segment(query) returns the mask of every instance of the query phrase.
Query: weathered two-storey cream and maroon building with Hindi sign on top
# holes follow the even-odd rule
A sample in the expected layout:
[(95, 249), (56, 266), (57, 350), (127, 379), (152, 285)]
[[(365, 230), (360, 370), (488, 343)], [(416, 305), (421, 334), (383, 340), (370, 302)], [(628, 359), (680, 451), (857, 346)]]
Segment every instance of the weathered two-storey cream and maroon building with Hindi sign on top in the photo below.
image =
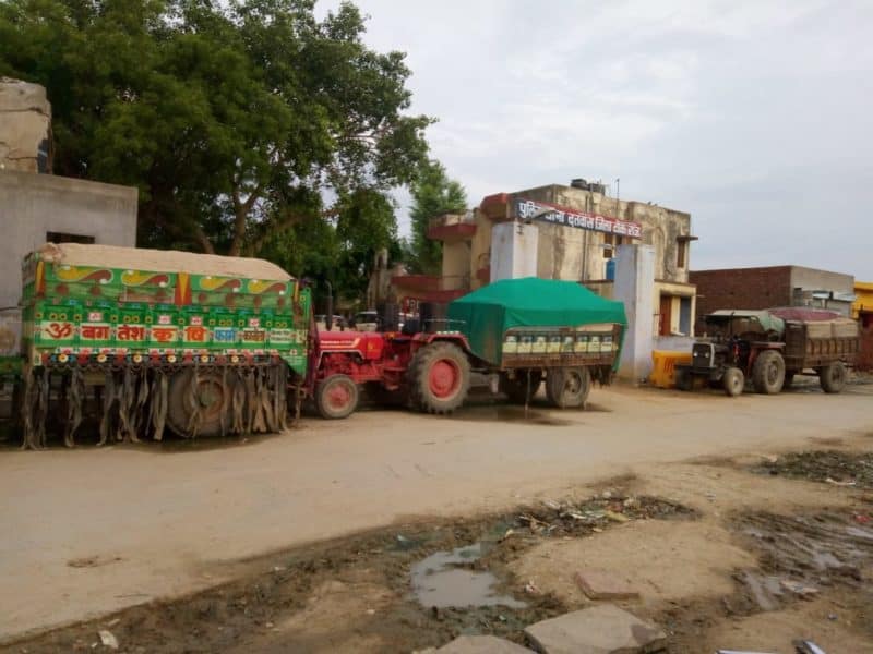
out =
[(482, 199), (463, 215), (431, 220), (443, 243), (440, 276), (393, 279), (398, 299), (447, 302), (505, 277), (575, 280), (612, 298), (617, 249), (655, 250), (653, 334), (693, 332), (695, 288), (689, 282), (691, 216), (651, 203), (609, 197), (602, 184), (574, 180)]

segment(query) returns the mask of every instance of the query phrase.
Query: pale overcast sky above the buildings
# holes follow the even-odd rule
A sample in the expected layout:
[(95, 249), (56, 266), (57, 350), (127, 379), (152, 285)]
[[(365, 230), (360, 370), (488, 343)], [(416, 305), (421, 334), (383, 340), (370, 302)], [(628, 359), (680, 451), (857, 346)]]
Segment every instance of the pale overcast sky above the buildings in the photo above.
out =
[(873, 281), (873, 1), (356, 4), (372, 47), (407, 53), (470, 206), (621, 178), (622, 198), (692, 215), (692, 268)]

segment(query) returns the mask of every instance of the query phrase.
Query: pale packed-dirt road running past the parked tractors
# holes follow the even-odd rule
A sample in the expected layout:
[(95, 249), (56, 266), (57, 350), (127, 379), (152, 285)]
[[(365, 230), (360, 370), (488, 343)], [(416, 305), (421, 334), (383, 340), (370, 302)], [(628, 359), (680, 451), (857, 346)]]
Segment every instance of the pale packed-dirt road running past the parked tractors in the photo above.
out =
[(492, 512), (654, 464), (870, 443), (873, 387), (596, 389), (585, 412), (372, 411), (218, 449), (0, 452), (0, 639), (213, 585), (239, 559), (409, 516)]

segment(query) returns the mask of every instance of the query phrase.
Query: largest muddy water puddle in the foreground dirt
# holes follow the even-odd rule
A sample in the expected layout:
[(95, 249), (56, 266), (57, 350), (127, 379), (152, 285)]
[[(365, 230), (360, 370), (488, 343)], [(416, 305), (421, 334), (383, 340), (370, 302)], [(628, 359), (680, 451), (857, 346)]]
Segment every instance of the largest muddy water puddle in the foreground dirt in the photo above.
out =
[(477, 543), (450, 552), (436, 552), (412, 566), (412, 592), (422, 606), (507, 606), (527, 605), (509, 595), (497, 594), (498, 578), (490, 572), (470, 570), (463, 566), (482, 556)]

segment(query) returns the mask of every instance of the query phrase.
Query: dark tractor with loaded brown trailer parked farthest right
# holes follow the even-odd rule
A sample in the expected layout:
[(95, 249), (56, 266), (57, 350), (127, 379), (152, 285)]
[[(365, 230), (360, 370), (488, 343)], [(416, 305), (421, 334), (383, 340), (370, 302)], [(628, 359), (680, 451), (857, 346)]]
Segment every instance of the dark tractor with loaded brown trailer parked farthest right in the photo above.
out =
[(677, 364), (675, 385), (691, 390), (695, 379), (743, 392), (789, 388), (797, 375), (816, 375), (825, 392), (840, 392), (847, 368), (860, 350), (858, 324), (847, 318), (784, 319), (769, 311), (722, 310), (704, 317), (707, 337), (692, 347), (690, 364)]

